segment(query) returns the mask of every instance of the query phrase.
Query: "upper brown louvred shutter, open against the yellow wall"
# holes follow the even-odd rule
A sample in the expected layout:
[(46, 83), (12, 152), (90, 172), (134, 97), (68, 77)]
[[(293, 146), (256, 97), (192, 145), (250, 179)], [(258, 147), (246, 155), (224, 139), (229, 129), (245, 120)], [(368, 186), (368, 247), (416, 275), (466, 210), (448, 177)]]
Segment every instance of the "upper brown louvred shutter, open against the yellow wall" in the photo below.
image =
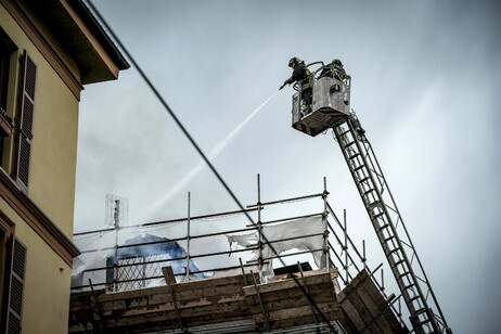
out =
[(29, 181), (36, 79), (37, 65), (25, 51), (23, 54), (23, 95), (20, 108), (20, 142), (15, 178), (24, 192), (27, 192)]

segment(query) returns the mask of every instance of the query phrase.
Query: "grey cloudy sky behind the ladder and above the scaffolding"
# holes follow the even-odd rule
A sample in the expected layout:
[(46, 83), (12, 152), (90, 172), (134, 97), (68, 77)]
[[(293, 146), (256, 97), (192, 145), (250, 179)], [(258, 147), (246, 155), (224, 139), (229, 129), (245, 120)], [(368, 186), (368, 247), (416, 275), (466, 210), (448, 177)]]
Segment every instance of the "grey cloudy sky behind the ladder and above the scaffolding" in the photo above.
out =
[[(288, 59), (343, 61), (371, 141), (454, 333), (501, 309), (501, 5), (496, 1), (125, 1), (93, 4), (241, 203), (323, 191), (374, 240), (332, 134), (291, 128)], [(256, 108), (272, 97), (234, 137)], [(220, 144), (226, 143), (222, 150)], [(75, 231), (237, 209), (134, 68), (86, 87)], [(194, 172), (192, 172), (195, 170)], [(188, 176), (188, 177), (187, 177)], [(265, 218), (266, 219), (266, 218)], [(374, 251), (374, 262), (377, 252)], [(369, 253), (371, 257), (371, 253)]]

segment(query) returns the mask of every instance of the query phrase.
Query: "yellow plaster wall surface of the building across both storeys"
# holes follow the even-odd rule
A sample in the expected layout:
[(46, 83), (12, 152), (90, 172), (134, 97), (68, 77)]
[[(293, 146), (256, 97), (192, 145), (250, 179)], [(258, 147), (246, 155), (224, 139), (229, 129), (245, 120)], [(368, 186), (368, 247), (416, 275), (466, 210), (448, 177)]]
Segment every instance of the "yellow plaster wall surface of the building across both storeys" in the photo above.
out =
[[(28, 196), (69, 239), (73, 235), (78, 100), (65, 86), (31, 40), (0, 4), (0, 26), (37, 65), (34, 139)], [(51, 41), (53, 42), (53, 41)], [(54, 46), (57, 49), (57, 46)], [(63, 59), (68, 59), (63, 55)], [(78, 74), (75, 64), (70, 70)], [(12, 75), (12, 74), (11, 74)], [(18, 90), (18, 69), (14, 74)], [(78, 78), (78, 76), (76, 75)], [(11, 89), (11, 88), (10, 88)], [(9, 92), (8, 108), (16, 110), (16, 94)], [(13, 156), (13, 155), (11, 155)], [(11, 174), (11, 164), (7, 172)], [(22, 327), (24, 334), (67, 333), (70, 272), (68, 266), (0, 197), (2, 210), (15, 224), (15, 235), (27, 247)]]

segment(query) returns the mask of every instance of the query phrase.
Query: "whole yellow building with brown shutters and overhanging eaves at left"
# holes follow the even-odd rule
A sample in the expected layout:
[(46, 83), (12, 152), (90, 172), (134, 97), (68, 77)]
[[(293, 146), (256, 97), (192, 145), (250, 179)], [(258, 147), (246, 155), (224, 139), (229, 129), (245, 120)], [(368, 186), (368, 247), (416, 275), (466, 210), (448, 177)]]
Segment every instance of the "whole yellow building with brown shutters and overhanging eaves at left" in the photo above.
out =
[(0, 0), (0, 330), (66, 333), (84, 86), (129, 65), (81, 0)]

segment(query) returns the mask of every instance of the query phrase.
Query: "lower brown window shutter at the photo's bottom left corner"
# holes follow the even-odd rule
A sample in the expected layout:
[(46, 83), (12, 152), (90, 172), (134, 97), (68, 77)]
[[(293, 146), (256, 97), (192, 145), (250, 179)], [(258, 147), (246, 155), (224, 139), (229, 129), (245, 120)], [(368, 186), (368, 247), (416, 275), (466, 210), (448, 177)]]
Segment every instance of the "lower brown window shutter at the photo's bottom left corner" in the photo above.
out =
[(26, 247), (12, 236), (8, 277), (8, 306), (5, 334), (21, 333), (23, 312), (24, 274), (26, 269)]

